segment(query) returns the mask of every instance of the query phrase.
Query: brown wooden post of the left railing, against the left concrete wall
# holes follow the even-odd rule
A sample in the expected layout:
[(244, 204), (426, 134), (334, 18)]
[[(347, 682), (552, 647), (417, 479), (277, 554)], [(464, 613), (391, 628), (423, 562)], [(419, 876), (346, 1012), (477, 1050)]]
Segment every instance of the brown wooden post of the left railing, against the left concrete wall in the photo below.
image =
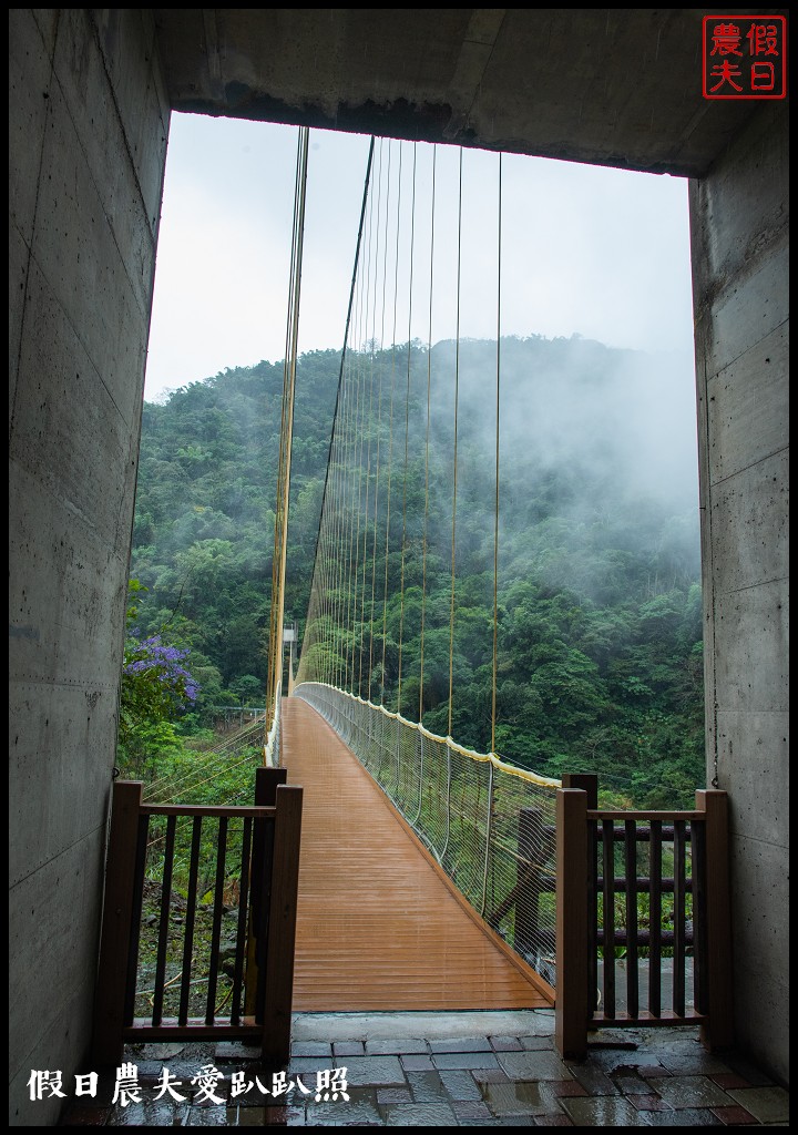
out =
[(95, 1068), (119, 1065), (123, 1057), (125, 982), (141, 801), (141, 781), (117, 781), (114, 784), (100, 961), (94, 992), (92, 1065)]

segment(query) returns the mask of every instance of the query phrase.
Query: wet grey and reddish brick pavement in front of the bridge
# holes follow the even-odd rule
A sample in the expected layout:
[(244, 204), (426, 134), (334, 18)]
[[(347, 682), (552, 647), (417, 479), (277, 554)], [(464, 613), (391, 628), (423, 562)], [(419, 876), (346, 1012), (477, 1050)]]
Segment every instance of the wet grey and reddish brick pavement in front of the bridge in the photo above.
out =
[[(62, 1126), (788, 1126), (789, 1093), (695, 1028), (602, 1031), (561, 1060), (553, 1010), (299, 1014), (291, 1062), (242, 1044), (145, 1044), (81, 1083)], [(118, 1082), (118, 1083), (117, 1083)], [(91, 1094), (92, 1087), (94, 1093)], [(76, 1084), (77, 1090), (77, 1084)], [(115, 1102), (115, 1095), (117, 1096)]]

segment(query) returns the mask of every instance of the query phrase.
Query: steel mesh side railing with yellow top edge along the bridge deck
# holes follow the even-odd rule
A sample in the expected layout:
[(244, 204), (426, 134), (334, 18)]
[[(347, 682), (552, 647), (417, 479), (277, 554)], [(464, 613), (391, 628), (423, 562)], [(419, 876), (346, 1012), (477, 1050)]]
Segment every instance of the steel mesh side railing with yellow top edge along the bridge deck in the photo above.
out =
[(352, 749), (477, 914), (554, 986), (560, 781), (333, 686), (302, 682), (294, 693)]

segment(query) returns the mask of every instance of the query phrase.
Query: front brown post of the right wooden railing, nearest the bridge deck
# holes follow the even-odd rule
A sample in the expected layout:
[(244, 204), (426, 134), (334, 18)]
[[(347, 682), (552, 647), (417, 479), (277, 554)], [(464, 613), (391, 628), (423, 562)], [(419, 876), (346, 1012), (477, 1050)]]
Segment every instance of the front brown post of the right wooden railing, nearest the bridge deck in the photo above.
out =
[(587, 792), (557, 790), (555, 1043), (562, 1057), (587, 1056)]

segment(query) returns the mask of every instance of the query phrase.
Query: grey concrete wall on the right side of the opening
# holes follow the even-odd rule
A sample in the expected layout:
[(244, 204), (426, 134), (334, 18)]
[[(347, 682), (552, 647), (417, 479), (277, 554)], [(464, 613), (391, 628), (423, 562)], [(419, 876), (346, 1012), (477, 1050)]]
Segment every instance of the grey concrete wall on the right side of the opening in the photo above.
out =
[(731, 799), (738, 1039), (786, 1083), (787, 128), (768, 106), (691, 185), (707, 783)]

